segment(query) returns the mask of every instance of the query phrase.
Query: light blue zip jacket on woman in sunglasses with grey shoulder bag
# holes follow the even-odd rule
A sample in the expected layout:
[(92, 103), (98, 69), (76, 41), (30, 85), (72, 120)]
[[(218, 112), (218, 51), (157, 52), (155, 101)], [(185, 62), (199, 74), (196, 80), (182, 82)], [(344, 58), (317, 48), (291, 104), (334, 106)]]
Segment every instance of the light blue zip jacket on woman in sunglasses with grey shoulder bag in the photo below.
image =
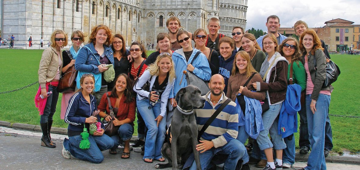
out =
[[(193, 48), (193, 53), (191, 54), (189, 61), (186, 62), (185, 54), (182, 48), (175, 50), (172, 53), (172, 60), (175, 64), (175, 84), (172, 92), (170, 93), (169, 98), (175, 98), (176, 93), (180, 90), (180, 88), (188, 86), (188, 82), (186, 82), (185, 76), (183, 76), (183, 71), (189, 72), (186, 68), (188, 64), (191, 63), (195, 54), (199, 50)], [(211, 77), (211, 69), (209, 66), (209, 62), (206, 56), (203, 53), (200, 53), (196, 60), (193, 62), (193, 66), (195, 67), (193, 73), (201, 78), (204, 81), (209, 81)], [(181, 83), (180, 83), (181, 82)]]

